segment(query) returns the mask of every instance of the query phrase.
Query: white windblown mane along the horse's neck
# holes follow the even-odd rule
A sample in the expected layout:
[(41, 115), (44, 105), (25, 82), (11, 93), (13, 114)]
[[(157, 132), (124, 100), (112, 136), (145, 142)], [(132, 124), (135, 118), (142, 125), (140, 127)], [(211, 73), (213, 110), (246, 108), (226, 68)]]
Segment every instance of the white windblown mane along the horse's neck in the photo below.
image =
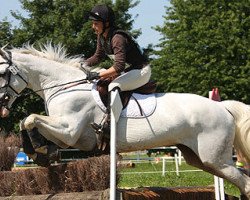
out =
[(34, 45), (25, 44), (22, 48), (14, 48), (12, 51), (47, 58), (74, 67), (79, 67), (79, 62), (83, 60), (81, 56), (68, 56), (66, 48), (61, 44), (54, 46), (51, 43), (43, 44), (40, 45), (40, 50)]

